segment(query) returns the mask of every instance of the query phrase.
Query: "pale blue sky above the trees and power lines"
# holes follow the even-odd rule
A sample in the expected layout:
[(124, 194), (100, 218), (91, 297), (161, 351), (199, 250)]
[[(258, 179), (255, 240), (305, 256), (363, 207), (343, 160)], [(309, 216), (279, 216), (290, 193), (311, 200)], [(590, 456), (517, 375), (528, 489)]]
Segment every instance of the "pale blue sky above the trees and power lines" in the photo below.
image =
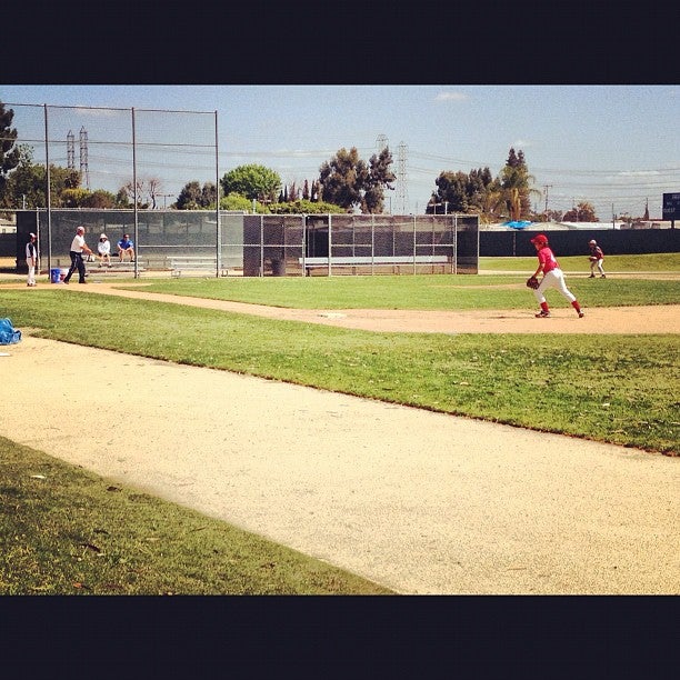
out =
[[(79, 131), (87, 130), (92, 189), (116, 191), (131, 179), (131, 162), (120, 160), (114, 142), (129, 139), (134, 108), (142, 141), (176, 144), (162, 159), (160, 151), (142, 154), (143, 171), (174, 196), (187, 181), (214, 181), (214, 111), (219, 177), (261, 163), (301, 186), (338, 149), (357, 147), (368, 161), (386, 138), (399, 176), (388, 193), (392, 212), (423, 212), (441, 171), (489, 167), (498, 174), (511, 147), (524, 152), (538, 208), (546, 193), (548, 208), (562, 211), (589, 201), (607, 221), (612, 207), (618, 216), (642, 216), (649, 200), (650, 217), (660, 218), (662, 194), (680, 191), (677, 84), (2, 84), (0, 100), (14, 109), (13, 126), (26, 139), (44, 133), (42, 109), (13, 104), (48, 104), (50, 140), (73, 132), (77, 167)], [(103, 111), (73, 117), (60, 107), (123, 111), (109, 128)], [(56, 144), (50, 157), (66, 166), (63, 149)], [(36, 160), (44, 160), (43, 146)]]

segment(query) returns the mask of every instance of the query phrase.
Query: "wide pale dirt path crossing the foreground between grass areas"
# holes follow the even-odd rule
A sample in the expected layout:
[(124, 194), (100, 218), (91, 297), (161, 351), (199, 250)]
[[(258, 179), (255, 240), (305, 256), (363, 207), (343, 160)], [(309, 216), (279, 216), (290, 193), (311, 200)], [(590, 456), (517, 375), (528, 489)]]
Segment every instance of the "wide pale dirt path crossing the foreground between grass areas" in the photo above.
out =
[(0, 434), (399, 592), (680, 593), (680, 459), (30, 333), (2, 350)]

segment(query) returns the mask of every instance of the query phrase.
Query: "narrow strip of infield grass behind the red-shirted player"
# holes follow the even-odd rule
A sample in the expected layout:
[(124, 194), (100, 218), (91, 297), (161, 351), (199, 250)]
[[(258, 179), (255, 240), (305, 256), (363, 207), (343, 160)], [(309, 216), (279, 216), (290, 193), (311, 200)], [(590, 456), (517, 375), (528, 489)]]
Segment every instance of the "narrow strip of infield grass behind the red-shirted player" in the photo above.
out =
[[(536, 301), (524, 281), (523, 276), (507, 274), (187, 278), (144, 280), (144, 290), (298, 309), (533, 309)], [(586, 308), (680, 301), (680, 278), (573, 277), (567, 284)], [(559, 293), (553, 292), (550, 302), (556, 308), (568, 307)]]

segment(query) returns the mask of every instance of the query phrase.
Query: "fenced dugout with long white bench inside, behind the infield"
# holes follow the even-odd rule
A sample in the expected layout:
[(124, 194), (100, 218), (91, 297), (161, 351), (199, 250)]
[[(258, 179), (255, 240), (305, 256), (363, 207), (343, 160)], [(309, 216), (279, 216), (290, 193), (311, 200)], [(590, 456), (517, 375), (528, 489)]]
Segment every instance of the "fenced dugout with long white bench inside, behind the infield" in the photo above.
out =
[(478, 216), (243, 218), (243, 276), (477, 273)]

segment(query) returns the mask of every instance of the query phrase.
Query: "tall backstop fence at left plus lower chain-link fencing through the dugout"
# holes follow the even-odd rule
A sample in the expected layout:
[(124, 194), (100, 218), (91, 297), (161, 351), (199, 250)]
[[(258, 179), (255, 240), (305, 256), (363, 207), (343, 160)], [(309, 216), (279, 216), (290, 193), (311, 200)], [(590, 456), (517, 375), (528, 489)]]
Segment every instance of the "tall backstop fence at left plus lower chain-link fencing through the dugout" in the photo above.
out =
[[(13, 111), (14, 143), (28, 154), (28, 164), (44, 169), (36, 190), (14, 207), (19, 270), (26, 267), (31, 231), (38, 234), (42, 268), (68, 266), (82, 224), (94, 251), (99, 234), (107, 233), (114, 262), (116, 242), (130, 234), (136, 277), (154, 269), (202, 276), (478, 271), (478, 216), (167, 210), (167, 198), (178, 197), (189, 182), (203, 190), (214, 184), (219, 206), (217, 111), (4, 106)], [(64, 170), (77, 170), (81, 188), (93, 192), (123, 191), (132, 208), (69, 208), (54, 198), (68, 196), (64, 182), (72, 180)]]

